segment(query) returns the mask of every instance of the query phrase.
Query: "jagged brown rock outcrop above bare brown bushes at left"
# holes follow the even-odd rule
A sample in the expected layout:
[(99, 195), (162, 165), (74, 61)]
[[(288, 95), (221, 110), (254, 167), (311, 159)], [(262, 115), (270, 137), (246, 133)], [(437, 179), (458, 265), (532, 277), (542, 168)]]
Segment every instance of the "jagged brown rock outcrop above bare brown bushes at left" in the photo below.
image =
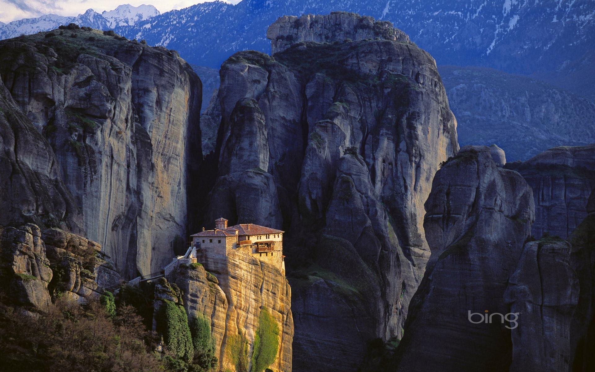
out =
[(60, 229), (35, 224), (0, 229), (0, 280), (10, 301), (29, 312), (45, 310), (52, 296), (98, 299), (120, 276), (101, 246)]

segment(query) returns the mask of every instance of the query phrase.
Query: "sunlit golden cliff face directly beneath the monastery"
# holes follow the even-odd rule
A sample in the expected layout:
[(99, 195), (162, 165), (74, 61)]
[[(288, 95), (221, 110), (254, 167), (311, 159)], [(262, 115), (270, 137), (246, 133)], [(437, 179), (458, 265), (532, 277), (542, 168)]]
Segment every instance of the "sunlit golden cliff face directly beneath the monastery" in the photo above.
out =
[(168, 280), (183, 293), (190, 322), (197, 317), (210, 321), (220, 370), (242, 371), (242, 361), (250, 368), (259, 317), (261, 311), (267, 311), (279, 330), (277, 354), (269, 368), (291, 371), (291, 290), (283, 273), (240, 252), (227, 257), (209, 254), (201, 261), (204, 267), (180, 267)]

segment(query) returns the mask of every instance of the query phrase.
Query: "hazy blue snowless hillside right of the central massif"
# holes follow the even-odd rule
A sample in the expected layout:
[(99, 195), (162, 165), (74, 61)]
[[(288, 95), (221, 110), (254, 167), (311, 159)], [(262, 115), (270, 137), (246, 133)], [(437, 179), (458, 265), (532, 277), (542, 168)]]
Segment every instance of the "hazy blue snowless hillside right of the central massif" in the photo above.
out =
[(440, 66), (459, 143), (491, 145), (508, 161), (595, 142), (595, 102), (539, 80), (480, 67)]

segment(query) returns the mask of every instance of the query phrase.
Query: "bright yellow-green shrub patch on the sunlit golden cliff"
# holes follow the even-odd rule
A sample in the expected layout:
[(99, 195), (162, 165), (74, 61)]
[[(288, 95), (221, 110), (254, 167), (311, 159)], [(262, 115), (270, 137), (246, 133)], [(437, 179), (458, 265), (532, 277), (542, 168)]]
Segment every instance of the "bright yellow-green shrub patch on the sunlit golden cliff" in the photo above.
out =
[(262, 372), (277, 358), (279, 326), (267, 308), (262, 308), (254, 337), (252, 372)]

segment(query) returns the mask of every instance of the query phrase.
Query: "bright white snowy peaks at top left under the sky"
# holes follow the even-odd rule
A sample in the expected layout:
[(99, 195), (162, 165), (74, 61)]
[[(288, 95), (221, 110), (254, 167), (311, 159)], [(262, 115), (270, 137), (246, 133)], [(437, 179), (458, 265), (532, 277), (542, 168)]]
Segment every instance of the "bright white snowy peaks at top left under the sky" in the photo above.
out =
[(115, 10), (104, 11), (102, 14), (92, 9), (76, 17), (46, 14), (37, 18), (24, 18), (8, 24), (0, 24), (0, 39), (10, 39), (10, 37), (16, 37), (21, 34), (30, 35), (40, 31), (53, 30), (62, 24), (68, 23), (108, 30), (118, 26), (133, 26), (138, 21), (148, 20), (158, 14), (159, 11), (153, 5), (133, 7), (130, 4), (120, 5)]

